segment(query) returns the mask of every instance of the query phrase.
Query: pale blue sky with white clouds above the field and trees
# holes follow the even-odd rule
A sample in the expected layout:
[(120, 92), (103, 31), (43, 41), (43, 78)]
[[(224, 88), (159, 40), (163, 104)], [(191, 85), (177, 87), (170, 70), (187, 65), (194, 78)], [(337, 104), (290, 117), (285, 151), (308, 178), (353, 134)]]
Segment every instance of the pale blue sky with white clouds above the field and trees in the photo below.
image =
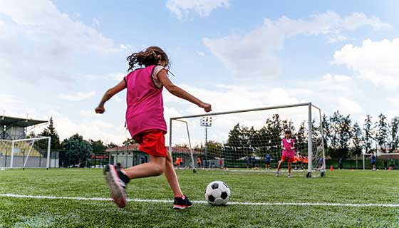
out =
[[(53, 116), (61, 138), (120, 143), (126, 56), (161, 46), (172, 81), (214, 111), (313, 102), (398, 115), (398, 1), (0, 0), (0, 110)], [(165, 95), (165, 116), (202, 110)], [(228, 98), (228, 99), (226, 99)], [(375, 119), (376, 120), (376, 119)], [(40, 129), (37, 129), (40, 131)]]

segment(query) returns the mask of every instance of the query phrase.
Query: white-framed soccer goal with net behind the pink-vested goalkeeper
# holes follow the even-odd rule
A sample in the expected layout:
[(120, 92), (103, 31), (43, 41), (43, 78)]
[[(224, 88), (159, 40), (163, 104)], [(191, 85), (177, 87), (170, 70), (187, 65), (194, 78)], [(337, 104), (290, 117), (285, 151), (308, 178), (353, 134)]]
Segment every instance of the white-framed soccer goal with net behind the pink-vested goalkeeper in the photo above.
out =
[(194, 170), (273, 171), (285, 130), (295, 142), (292, 170), (325, 175), (321, 110), (312, 103), (170, 118), (169, 150), (175, 158), (186, 148)]

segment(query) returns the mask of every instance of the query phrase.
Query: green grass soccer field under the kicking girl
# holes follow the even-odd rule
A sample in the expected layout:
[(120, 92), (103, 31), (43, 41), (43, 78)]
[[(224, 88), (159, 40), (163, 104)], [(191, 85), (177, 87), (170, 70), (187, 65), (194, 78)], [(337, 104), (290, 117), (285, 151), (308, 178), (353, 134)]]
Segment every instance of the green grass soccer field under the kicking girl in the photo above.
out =
[[(331, 205), (227, 204), (197, 202), (173, 210), (171, 202), (128, 202), (125, 209), (107, 200), (35, 199), (4, 194), (106, 197), (100, 169), (6, 170), (0, 172), (0, 227), (399, 227), (399, 207), (341, 204), (399, 204), (399, 172), (334, 170), (311, 180), (265, 172), (177, 170), (183, 192), (204, 200), (204, 188), (222, 180), (230, 202), (311, 202)], [(172, 199), (164, 176), (133, 180), (130, 199)]]

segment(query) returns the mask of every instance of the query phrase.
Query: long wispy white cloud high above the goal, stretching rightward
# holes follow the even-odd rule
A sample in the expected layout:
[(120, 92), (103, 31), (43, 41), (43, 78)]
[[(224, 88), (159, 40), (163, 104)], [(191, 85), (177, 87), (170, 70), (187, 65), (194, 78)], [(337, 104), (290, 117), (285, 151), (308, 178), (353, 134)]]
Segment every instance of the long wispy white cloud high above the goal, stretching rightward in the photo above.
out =
[(343, 41), (347, 38), (342, 34), (343, 31), (361, 26), (390, 28), (377, 17), (368, 18), (364, 14), (353, 13), (343, 18), (328, 11), (311, 15), (308, 21), (286, 16), (276, 21), (265, 19), (264, 24), (247, 34), (204, 38), (203, 42), (237, 78), (271, 78), (282, 71), (277, 54), (284, 48), (286, 38), (299, 34), (326, 35), (328, 42)]

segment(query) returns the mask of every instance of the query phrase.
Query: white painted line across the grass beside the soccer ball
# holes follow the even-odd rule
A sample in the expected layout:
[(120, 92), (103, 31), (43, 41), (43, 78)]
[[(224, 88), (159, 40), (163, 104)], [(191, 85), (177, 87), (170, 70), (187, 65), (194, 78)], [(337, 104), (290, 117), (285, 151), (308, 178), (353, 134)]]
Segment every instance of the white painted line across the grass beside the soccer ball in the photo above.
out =
[[(68, 199), (68, 200), (88, 200), (88, 201), (112, 201), (110, 198), (100, 197), (55, 197), (43, 195), (15, 195), (0, 194), (0, 197), (27, 198), (27, 199)], [(153, 202), (153, 203), (173, 203), (168, 199), (127, 199), (129, 202)], [(196, 204), (207, 204), (204, 200), (193, 200)], [(228, 202), (227, 204), (248, 205), (248, 206), (326, 206), (326, 207), (399, 207), (399, 204), (341, 204), (324, 202)]]

